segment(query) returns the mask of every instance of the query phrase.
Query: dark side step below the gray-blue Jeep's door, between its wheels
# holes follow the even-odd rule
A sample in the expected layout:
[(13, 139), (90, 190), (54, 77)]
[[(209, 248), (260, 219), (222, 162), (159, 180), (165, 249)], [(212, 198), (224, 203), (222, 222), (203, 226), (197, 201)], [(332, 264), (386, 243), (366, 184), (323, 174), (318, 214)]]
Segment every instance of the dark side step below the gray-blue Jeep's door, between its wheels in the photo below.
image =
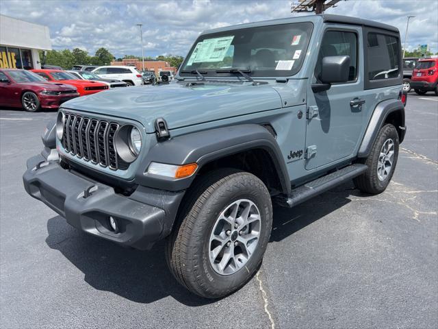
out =
[(348, 167), (344, 167), (316, 180), (307, 182), (302, 186), (294, 188), (291, 195), (289, 195), (287, 199), (283, 199), (281, 204), (294, 207), (297, 204), (305, 202), (318, 194), (329, 191), (331, 188), (359, 176), (361, 173), (365, 172), (367, 168), (368, 166), (365, 164), (351, 164)]

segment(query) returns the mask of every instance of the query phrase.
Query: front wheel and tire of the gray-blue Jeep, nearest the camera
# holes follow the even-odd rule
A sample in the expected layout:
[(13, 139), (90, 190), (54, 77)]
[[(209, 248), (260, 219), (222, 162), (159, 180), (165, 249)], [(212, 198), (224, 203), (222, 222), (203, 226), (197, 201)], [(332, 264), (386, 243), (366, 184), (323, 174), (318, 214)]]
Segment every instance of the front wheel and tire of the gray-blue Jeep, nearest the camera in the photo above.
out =
[(272, 228), (270, 194), (255, 175), (234, 169), (195, 183), (166, 239), (166, 259), (189, 291), (223, 297), (243, 287), (261, 264)]

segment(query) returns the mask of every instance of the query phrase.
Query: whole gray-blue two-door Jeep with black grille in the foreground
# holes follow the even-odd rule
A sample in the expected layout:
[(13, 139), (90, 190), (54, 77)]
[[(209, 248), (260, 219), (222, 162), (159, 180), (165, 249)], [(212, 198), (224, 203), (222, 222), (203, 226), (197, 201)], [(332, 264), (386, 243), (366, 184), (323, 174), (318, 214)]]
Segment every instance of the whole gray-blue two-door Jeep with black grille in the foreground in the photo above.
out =
[(175, 278), (222, 297), (261, 264), (272, 202), (350, 179), (385, 191), (406, 132), (400, 54), (398, 29), (344, 16), (211, 29), (170, 84), (64, 103), (25, 189), (94, 236), (166, 239)]

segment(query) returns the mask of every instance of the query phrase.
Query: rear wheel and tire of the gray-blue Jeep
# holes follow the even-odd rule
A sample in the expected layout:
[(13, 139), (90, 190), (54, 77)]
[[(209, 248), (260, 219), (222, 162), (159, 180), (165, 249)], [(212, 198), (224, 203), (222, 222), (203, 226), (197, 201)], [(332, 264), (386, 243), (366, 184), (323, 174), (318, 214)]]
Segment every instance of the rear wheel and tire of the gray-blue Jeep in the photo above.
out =
[(353, 179), (356, 188), (370, 194), (385, 191), (396, 169), (398, 145), (396, 127), (391, 124), (381, 127), (370, 155), (365, 160), (365, 164), (368, 166), (367, 171)]

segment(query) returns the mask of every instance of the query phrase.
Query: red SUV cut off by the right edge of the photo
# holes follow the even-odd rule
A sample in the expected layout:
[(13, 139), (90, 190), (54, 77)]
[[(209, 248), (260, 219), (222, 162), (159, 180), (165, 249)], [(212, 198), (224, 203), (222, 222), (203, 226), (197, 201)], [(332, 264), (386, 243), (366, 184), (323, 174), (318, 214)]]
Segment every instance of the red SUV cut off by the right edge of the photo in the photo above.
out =
[(435, 91), (438, 96), (438, 58), (424, 58), (417, 62), (412, 73), (411, 88), (418, 95)]

